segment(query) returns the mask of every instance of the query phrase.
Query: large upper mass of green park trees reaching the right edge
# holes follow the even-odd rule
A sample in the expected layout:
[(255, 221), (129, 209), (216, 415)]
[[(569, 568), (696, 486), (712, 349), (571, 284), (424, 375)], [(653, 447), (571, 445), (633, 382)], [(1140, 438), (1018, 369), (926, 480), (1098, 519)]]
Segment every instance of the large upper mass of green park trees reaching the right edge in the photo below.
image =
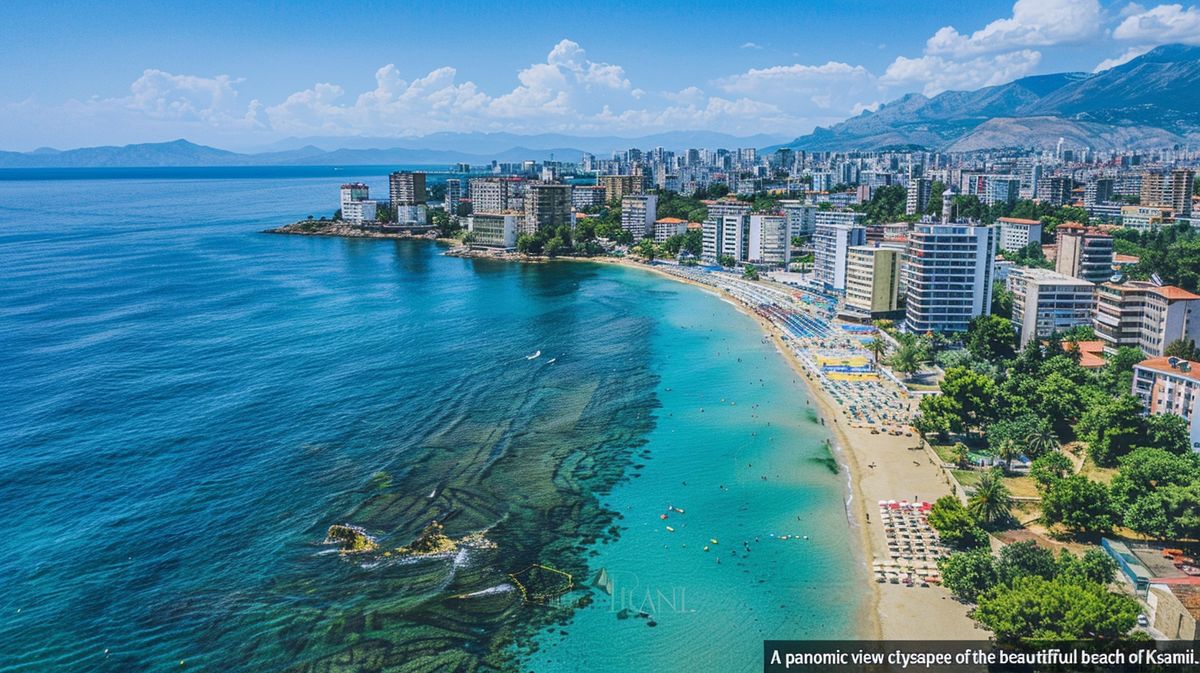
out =
[[(1040, 521), (1061, 534), (1094, 539), (1123, 527), (1154, 539), (1200, 537), (1200, 457), (1190, 451), (1183, 417), (1147, 415), (1129, 393), (1140, 351), (1120, 349), (1104, 367), (1088, 371), (1079, 365), (1079, 350), (1058, 337), (1016, 350), (1012, 324), (996, 316), (972, 322), (962, 342), (941, 395), (922, 399), (916, 422), (924, 435), (953, 443), (953, 462), (966, 464), (972, 447), (997, 458), (1000, 471), (1031, 461)], [(917, 339), (907, 343), (920, 348)], [(1172, 347), (1184, 351), (1194, 344)], [(1078, 459), (1063, 453), (1063, 445), (1074, 446)], [(1076, 474), (1085, 461), (1111, 470), (1111, 485)], [(943, 533), (952, 545), (972, 539), (968, 523), (984, 529), (1001, 523), (994, 503), (1003, 498), (995, 482), (1002, 483), (995, 469), (976, 482), (966, 506), (970, 522), (931, 515), (930, 523), (941, 530), (938, 524), (958, 522)]]

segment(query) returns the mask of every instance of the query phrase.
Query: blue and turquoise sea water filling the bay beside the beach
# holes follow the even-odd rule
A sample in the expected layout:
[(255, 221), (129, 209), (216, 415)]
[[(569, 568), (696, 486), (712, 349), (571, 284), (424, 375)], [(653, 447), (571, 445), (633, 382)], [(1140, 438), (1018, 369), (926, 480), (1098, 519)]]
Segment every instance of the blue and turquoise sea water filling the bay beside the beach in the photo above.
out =
[[(845, 469), (754, 322), (640, 270), (259, 233), (347, 176), (2, 176), (0, 671), (760, 671), (864, 635)], [(322, 545), (433, 519), (490, 545)]]

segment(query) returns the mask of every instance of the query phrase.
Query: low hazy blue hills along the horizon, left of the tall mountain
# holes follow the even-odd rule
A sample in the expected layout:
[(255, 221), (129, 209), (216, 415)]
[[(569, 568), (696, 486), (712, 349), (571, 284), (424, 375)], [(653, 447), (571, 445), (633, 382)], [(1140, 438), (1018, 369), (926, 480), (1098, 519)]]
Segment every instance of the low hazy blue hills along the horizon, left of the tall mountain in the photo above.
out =
[(187, 140), (31, 152), (0, 151), (0, 168), (116, 168), (178, 166), (474, 166), (526, 160), (578, 161), (583, 152), (611, 156), (630, 148), (761, 148), (779, 136), (736, 137), (709, 131), (678, 131), (638, 138), (583, 137), (559, 133), (434, 133), (421, 138), (289, 138), (258, 152), (232, 152)]

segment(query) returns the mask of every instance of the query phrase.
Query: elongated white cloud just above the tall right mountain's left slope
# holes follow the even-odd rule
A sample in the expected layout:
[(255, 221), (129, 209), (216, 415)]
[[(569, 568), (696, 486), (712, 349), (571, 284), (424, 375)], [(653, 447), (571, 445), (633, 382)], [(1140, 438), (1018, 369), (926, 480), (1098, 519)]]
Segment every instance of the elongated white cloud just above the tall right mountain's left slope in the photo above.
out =
[(916, 59), (900, 56), (888, 66), (881, 82), (899, 88), (919, 85), (923, 94), (935, 96), (948, 90), (1004, 84), (1030, 74), (1040, 61), (1042, 54), (1031, 49), (968, 60), (935, 55)]

